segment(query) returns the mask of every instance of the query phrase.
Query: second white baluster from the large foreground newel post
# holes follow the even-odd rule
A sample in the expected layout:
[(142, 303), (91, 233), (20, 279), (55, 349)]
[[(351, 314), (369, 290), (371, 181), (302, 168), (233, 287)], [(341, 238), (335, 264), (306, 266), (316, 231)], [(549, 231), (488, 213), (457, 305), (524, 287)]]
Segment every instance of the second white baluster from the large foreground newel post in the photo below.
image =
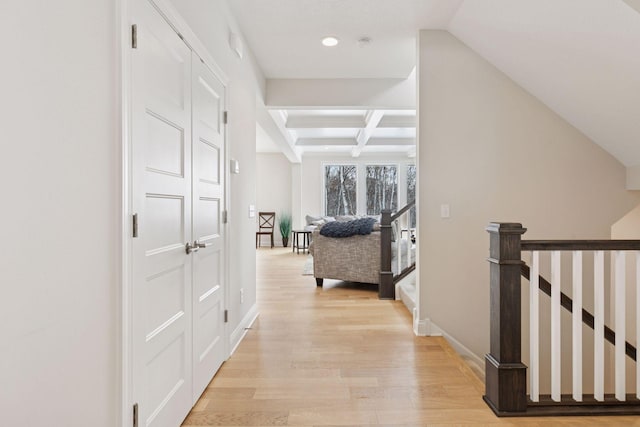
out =
[(560, 264), (561, 252), (551, 252), (551, 400), (560, 402), (561, 361), (560, 341)]

